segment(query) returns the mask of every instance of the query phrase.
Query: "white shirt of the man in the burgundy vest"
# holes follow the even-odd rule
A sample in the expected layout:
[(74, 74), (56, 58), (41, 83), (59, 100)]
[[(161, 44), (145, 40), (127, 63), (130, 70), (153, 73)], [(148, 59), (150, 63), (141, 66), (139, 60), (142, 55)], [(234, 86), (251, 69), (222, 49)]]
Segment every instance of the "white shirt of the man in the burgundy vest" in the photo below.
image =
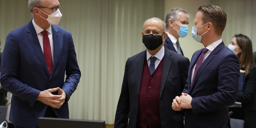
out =
[[(152, 55), (148, 52), (147, 49), (147, 61), (148, 61), (148, 67), (150, 66), (150, 57)], [(155, 70), (159, 63), (161, 62), (162, 58), (164, 57), (164, 46), (154, 55), (157, 59), (155, 61)]]

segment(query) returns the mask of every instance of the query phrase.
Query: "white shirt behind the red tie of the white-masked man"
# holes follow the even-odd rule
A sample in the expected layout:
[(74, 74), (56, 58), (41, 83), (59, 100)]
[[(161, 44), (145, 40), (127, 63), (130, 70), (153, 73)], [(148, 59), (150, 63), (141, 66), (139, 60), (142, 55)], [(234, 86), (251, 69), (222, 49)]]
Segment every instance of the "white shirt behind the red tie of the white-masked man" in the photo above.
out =
[[(43, 31), (42, 28), (40, 28), (35, 22), (34, 19), (32, 20), (33, 26), (36, 30), (36, 34), (40, 43), (40, 46), (42, 48), (42, 51), (44, 53), (44, 45), (43, 45), (43, 34), (41, 33)], [(49, 28), (46, 29), (46, 31), (48, 32), (48, 37), (50, 40), (50, 46), (51, 46), (51, 50), (52, 50), (52, 62), (53, 62), (53, 40), (52, 40), (52, 25), (50, 25)]]

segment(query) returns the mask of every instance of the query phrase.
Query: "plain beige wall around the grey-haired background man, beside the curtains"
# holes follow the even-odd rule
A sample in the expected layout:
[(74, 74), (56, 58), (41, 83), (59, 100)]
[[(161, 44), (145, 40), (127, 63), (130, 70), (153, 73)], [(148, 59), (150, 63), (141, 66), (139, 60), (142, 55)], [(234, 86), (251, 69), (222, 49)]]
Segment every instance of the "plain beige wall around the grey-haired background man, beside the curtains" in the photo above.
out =
[(191, 14), (188, 24), (188, 34), (184, 38), (179, 38), (180, 47), (182, 48), (184, 56), (188, 57), (188, 59), (191, 59), (196, 50), (204, 47), (199, 42), (196, 42), (191, 35), (191, 28), (194, 26), (197, 9), (204, 4), (210, 4), (210, 0), (165, 0), (164, 18), (167, 12), (172, 8), (182, 8)]

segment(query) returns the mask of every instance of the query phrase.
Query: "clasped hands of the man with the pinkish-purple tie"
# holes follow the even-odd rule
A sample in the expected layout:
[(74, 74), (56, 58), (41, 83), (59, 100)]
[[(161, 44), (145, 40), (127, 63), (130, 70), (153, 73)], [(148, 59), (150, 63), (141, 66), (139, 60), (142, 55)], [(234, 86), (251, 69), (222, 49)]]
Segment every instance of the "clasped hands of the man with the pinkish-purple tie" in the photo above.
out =
[(182, 96), (176, 96), (172, 102), (172, 109), (175, 111), (180, 111), (182, 108), (190, 109), (192, 97), (189, 94), (182, 93)]

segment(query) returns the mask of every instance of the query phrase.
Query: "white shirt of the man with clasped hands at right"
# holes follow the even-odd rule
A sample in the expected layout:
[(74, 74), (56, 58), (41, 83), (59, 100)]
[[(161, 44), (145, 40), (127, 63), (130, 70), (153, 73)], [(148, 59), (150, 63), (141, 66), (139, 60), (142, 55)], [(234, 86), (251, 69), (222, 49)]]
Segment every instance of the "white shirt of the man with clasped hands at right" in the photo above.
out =
[[(213, 42), (212, 44), (208, 45), (206, 48), (208, 49), (208, 51), (204, 54), (204, 58), (202, 63), (204, 62), (204, 60), (209, 56), (209, 54), (222, 42), (222, 39), (217, 40), (216, 42)], [(204, 47), (205, 48), (205, 47)], [(197, 61), (197, 60), (196, 60)], [(194, 65), (193, 69), (192, 69), (192, 74), (191, 74), (191, 82), (193, 80), (193, 76), (194, 76), (194, 72), (195, 72), (195, 68), (196, 68), (196, 64)]]

